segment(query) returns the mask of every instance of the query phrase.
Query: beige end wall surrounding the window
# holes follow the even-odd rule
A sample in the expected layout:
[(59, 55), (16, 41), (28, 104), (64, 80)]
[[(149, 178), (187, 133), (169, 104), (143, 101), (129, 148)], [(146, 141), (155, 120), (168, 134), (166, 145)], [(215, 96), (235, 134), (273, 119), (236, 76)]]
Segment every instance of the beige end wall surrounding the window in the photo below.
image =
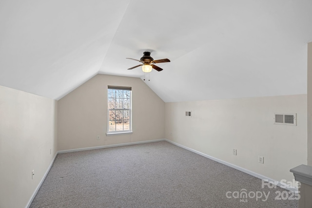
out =
[[(108, 85), (132, 87), (131, 134), (106, 136)], [(59, 151), (163, 139), (164, 112), (165, 103), (140, 78), (94, 76), (59, 100)]]

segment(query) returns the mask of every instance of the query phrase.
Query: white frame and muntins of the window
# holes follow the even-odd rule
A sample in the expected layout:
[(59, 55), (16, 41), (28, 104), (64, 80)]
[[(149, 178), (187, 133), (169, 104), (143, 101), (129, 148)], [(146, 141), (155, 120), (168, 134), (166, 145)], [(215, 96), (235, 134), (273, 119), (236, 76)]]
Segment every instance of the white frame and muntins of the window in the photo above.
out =
[[(117, 97), (108, 97), (108, 91), (110, 89), (113, 90), (127, 90), (130, 91), (130, 105), (129, 108), (122, 108), (122, 109), (116, 109), (116, 108), (112, 108), (109, 109), (109, 98), (115, 98), (117, 99)], [(120, 99), (120, 98), (118, 98)], [(125, 99), (124, 97), (122, 99)], [(123, 102), (122, 102), (123, 103)], [(129, 111), (129, 130), (123, 130), (123, 131), (109, 131), (109, 126), (110, 126), (110, 111), (124, 111), (127, 110)], [(123, 119), (122, 119), (123, 120)], [(116, 120), (115, 120), (116, 121)], [(123, 120), (124, 121), (124, 120)], [(116, 125), (116, 123), (115, 123)], [(121, 87), (121, 86), (108, 86), (107, 88), (107, 132), (106, 135), (116, 135), (116, 134), (124, 134), (124, 133), (132, 133), (132, 88), (131, 87)]]

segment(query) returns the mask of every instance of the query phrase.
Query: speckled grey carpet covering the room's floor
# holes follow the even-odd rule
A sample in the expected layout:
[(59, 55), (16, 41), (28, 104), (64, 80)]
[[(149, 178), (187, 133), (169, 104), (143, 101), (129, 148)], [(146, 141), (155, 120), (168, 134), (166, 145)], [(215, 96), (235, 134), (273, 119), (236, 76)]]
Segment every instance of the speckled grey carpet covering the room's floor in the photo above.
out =
[(30, 208), (298, 207), (297, 200), (275, 199), (276, 191), (286, 189), (262, 189), (261, 184), (161, 141), (59, 154)]

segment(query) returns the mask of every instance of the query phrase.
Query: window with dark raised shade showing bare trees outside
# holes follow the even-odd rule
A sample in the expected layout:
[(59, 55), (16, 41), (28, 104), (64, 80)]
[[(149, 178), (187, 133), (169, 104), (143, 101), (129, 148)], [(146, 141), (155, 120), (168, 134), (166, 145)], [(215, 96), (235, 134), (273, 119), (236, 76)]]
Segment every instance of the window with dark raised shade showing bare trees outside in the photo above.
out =
[(131, 87), (108, 86), (108, 133), (131, 132)]

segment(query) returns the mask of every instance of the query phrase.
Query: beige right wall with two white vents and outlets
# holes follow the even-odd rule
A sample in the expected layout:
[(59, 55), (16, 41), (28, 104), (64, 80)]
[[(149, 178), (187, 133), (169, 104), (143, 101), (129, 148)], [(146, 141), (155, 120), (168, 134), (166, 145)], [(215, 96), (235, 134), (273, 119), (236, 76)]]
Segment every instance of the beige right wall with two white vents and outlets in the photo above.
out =
[[(166, 138), (180, 145), (276, 181), (291, 181), (290, 169), (307, 164), (307, 95), (165, 106)], [(192, 111), (192, 117), (185, 111)], [(297, 126), (274, 125), (273, 113), (297, 113)], [(264, 156), (264, 164), (258, 163), (258, 155)]]

